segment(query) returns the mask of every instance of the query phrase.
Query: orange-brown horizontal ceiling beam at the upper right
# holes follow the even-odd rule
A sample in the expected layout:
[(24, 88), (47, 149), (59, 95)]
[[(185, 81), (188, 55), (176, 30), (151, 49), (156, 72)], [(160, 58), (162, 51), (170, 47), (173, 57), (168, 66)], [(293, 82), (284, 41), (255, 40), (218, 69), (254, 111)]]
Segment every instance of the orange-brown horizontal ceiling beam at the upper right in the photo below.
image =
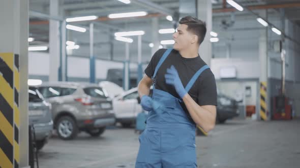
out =
[[(298, 8), (300, 3), (290, 3), (290, 4), (274, 4), (274, 5), (255, 5), (248, 6), (249, 10), (263, 10), (263, 9), (279, 9), (279, 8)], [(235, 12), (235, 8), (220, 8), (213, 9), (213, 13), (225, 13), (225, 12)]]

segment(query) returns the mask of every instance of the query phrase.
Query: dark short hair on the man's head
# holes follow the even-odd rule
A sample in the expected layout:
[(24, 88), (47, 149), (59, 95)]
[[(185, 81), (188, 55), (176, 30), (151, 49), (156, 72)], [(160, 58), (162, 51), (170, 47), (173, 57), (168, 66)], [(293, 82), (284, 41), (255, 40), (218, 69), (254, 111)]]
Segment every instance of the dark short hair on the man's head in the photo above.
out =
[(187, 30), (198, 36), (198, 44), (202, 43), (206, 34), (205, 22), (192, 16), (186, 16), (179, 20), (179, 24), (186, 24), (188, 26)]

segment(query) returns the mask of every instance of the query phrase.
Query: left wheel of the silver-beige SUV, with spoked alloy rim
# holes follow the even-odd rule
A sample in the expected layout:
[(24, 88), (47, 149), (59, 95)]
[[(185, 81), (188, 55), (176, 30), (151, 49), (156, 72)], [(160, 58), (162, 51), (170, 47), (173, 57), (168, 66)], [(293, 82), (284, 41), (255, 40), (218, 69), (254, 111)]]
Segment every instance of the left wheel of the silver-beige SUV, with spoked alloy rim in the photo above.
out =
[(76, 122), (69, 116), (63, 116), (58, 119), (56, 130), (59, 138), (63, 140), (74, 139), (78, 134)]

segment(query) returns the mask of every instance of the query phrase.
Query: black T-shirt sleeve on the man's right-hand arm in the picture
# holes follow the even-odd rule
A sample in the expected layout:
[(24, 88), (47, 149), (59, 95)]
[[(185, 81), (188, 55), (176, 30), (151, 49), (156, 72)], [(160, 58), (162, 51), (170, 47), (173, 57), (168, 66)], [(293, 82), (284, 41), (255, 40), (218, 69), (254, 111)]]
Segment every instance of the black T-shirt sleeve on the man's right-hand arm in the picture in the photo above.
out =
[(198, 104), (217, 106), (217, 86), (214, 74), (209, 74), (203, 79), (198, 92)]

